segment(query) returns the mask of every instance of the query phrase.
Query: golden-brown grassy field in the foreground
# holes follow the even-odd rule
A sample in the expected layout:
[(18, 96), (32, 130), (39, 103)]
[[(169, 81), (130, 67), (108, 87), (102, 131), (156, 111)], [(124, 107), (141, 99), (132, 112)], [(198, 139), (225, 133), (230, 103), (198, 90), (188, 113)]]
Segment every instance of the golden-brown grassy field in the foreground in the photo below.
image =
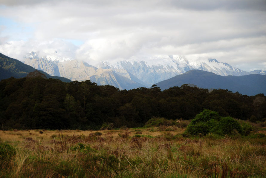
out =
[(265, 137), (184, 130), (0, 131), (0, 177), (266, 177)]

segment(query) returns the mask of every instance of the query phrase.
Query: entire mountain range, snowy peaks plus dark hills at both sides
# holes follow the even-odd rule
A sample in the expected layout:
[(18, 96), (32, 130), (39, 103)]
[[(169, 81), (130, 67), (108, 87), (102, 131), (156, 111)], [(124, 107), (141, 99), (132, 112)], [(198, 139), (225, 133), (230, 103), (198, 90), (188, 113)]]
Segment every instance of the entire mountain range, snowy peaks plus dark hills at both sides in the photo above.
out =
[[(162, 90), (194, 84), (200, 88), (228, 89), (247, 95), (266, 94), (266, 70), (246, 72), (216, 59), (195, 62), (181, 56), (157, 56), (146, 58), (145, 62), (142, 58), (112, 63), (103, 61), (94, 67), (86, 62), (62, 56), (39, 57), (35, 52), (29, 53), (23, 64), (0, 53), (0, 79), (11, 76), (25, 77), (36, 69), (47, 78), (57, 78), (64, 82), (91, 80), (98, 85), (113, 85), (127, 90), (147, 87), (154, 83)], [(248, 75), (250, 73), (254, 74)]]

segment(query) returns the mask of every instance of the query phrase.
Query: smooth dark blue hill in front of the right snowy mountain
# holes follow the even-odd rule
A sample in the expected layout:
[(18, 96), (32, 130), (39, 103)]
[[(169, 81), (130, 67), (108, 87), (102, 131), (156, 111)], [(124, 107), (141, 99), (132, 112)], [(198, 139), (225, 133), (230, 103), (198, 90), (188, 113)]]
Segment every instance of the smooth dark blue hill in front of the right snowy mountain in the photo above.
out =
[(247, 76), (219, 76), (202, 70), (188, 72), (156, 83), (162, 90), (183, 84), (194, 84), (200, 88), (221, 88), (247, 95), (266, 94), (266, 76), (251, 74)]

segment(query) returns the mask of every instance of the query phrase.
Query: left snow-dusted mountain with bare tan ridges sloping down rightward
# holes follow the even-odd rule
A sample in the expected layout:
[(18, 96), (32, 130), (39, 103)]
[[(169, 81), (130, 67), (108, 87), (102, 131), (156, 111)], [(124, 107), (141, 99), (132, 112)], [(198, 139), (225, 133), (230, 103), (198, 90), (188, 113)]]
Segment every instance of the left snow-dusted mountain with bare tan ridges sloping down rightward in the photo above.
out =
[(97, 69), (86, 62), (76, 59), (63, 58), (61, 56), (38, 56), (38, 53), (31, 52), (25, 56), (25, 64), (38, 70), (43, 70), (53, 76), (63, 76), (72, 81), (91, 80), (98, 85), (113, 85), (120, 89), (132, 89), (138, 87), (147, 87), (129, 78), (121, 76), (108, 69)]

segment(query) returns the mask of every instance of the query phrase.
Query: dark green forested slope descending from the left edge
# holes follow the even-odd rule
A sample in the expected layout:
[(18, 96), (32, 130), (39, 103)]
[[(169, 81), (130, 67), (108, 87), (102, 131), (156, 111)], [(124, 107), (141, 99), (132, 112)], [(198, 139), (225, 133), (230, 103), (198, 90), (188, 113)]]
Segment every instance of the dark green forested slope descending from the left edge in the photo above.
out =
[[(26, 77), (28, 73), (35, 71), (36, 69), (20, 62), (17, 59), (10, 58), (0, 53), (0, 80), (10, 77), (22, 78)], [(50, 76), (48, 73), (40, 71), (45, 74), (47, 78), (59, 79), (63, 82), (71, 82), (71, 80), (64, 77)]]

